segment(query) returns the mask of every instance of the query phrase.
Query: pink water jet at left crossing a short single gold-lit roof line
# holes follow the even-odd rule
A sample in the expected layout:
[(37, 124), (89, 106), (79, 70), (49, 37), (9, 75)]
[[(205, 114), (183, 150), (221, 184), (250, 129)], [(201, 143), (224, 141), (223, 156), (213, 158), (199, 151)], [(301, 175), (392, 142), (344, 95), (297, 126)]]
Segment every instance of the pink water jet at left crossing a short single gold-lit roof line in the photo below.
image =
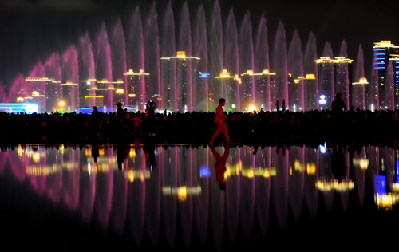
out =
[(72, 45), (62, 54), (62, 99), (66, 108), (74, 110), (79, 107), (79, 62), (78, 50)]

